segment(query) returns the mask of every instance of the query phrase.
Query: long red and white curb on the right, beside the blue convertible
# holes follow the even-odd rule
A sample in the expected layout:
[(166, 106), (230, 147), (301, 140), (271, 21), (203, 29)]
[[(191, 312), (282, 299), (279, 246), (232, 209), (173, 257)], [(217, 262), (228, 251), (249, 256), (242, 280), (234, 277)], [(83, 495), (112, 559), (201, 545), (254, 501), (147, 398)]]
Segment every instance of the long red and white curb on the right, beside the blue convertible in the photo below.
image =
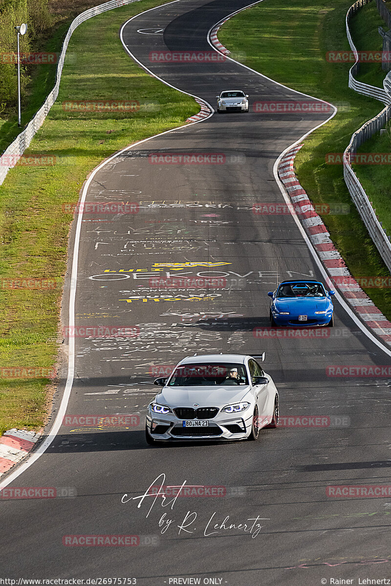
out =
[[(307, 193), (295, 175), (293, 161), (302, 146), (302, 144), (297, 145), (285, 153), (278, 166), (278, 176), (284, 183), (285, 190), (288, 192), (302, 226), (307, 231), (312, 246), (331, 277), (328, 286), (338, 288), (346, 303), (351, 306), (367, 328), (391, 346), (391, 322), (350, 274), (344, 259), (335, 248), (326, 226), (315, 212)], [(341, 279), (341, 283), (338, 283), (338, 277)]]

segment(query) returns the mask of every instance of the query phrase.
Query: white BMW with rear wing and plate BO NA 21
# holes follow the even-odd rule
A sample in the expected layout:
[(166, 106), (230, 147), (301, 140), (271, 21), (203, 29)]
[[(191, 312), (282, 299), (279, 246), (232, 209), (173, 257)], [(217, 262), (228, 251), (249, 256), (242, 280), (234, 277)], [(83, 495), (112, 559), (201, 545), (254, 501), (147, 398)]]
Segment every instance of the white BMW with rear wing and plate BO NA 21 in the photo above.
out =
[(188, 356), (147, 408), (148, 444), (168, 440), (257, 440), (277, 427), (279, 398), (256, 358), (240, 354)]

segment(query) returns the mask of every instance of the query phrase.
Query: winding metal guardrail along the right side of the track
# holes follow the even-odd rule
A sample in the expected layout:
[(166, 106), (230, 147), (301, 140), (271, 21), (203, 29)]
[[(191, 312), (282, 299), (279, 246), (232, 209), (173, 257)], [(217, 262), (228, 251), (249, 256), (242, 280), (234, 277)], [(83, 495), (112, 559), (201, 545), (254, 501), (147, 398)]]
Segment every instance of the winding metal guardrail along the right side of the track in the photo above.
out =
[(391, 272), (391, 242), (390, 237), (387, 236), (386, 231), (382, 227), (382, 223), (379, 222), (376, 212), (373, 209), (368, 196), (363, 189), (363, 186), (359, 182), (356, 173), (352, 169), (351, 161), (363, 142), (367, 141), (372, 137), (375, 132), (379, 132), (381, 128), (384, 128), (391, 119), (391, 72), (387, 74), (386, 79), (383, 81), (384, 90), (369, 86), (366, 83), (361, 83), (354, 79), (354, 75), (359, 70), (358, 53), (357, 49), (352, 41), (351, 33), (349, 30), (349, 21), (352, 16), (361, 6), (368, 4), (371, 0), (358, 0), (349, 8), (346, 14), (346, 34), (348, 35), (349, 45), (355, 54), (356, 62), (349, 71), (349, 87), (357, 91), (364, 96), (370, 96), (376, 98), (387, 104), (386, 107), (372, 120), (365, 122), (359, 130), (357, 130), (351, 138), (348, 147), (344, 152), (344, 179), (346, 186), (348, 187), (349, 193), (352, 197), (353, 203), (355, 204), (363, 223), (365, 224), (370, 237), (378, 248), (380, 255), (383, 258), (388, 270)]

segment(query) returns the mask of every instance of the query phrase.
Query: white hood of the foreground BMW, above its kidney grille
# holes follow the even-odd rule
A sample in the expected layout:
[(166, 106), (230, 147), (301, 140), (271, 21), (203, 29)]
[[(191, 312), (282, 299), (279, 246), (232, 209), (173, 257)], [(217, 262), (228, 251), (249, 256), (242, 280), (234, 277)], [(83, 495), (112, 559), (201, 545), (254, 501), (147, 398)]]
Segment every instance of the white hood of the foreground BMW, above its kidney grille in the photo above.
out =
[(241, 401), (251, 389), (247, 384), (210, 387), (164, 387), (156, 397), (158, 403), (169, 407), (223, 407)]

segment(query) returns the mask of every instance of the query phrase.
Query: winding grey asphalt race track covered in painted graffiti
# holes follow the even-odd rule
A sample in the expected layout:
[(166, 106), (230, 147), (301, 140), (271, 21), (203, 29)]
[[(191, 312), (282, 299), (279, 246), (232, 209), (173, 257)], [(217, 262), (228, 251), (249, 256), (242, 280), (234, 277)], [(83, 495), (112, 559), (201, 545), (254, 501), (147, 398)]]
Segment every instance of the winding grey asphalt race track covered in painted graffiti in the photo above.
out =
[[(326, 493), (328, 485), (390, 483), (390, 381), (327, 376), (330, 365), (385, 365), (389, 357), (338, 303), (335, 326), (322, 337), (254, 334), (269, 326), (267, 291), (278, 280), (321, 278), (291, 214), (254, 214), (253, 205), (284, 204), (274, 162), (330, 114), (254, 113), (255, 101), (310, 98), (230, 60), (183, 64), (151, 56), (212, 52), (208, 30), (246, 4), (181, 0), (141, 14), (124, 28), (128, 50), (152, 73), (213, 107), (221, 90), (243, 89), (250, 112), (215, 114), (152, 138), (94, 175), (87, 202), (139, 207), (138, 213), (83, 214), (76, 326), (130, 331), (75, 338), (67, 414), (138, 414), (140, 424), (61, 427), (9, 488), (72, 487), (77, 496), (2, 499), (4, 576), (137, 578), (148, 586), (197, 583), (186, 578), (199, 578), (200, 584), (312, 586), (322, 578), (328, 584), (330, 578), (354, 578), (358, 584), (358, 578), (390, 575), (389, 499)], [(154, 158), (192, 153), (204, 154), (204, 162), (168, 158), (166, 164)], [(210, 162), (212, 155), (219, 155), (218, 163)], [(75, 225), (70, 252), (74, 232)], [(157, 275), (213, 276), (221, 284), (159, 289), (152, 281)], [(67, 319), (65, 305), (64, 325)], [(65, 356), (67, 343), (65, 336)], [(257, 442), (148, 447), (144, 414), (157, 391), (156, 376), (196, 352), (263, 351), (265, 370), (280, 391), (281, 415), (322, 415), (330, 425), (283, 425), (263, 430)], [(163, 473), (164, 485), (218, 486), (223, 496), (179, 497), (166, 507), (159, 499), (128, 500), (157, 485)], [(124, 494), (128, 502), (122, 503)], [(263, 520), (257, 521), (259, 530), (244, 532), (225, 529), (227, 516), (225, 527)], [(140, 544), (64, 546), (63, 537), (74, 534), (136, 535)]]

